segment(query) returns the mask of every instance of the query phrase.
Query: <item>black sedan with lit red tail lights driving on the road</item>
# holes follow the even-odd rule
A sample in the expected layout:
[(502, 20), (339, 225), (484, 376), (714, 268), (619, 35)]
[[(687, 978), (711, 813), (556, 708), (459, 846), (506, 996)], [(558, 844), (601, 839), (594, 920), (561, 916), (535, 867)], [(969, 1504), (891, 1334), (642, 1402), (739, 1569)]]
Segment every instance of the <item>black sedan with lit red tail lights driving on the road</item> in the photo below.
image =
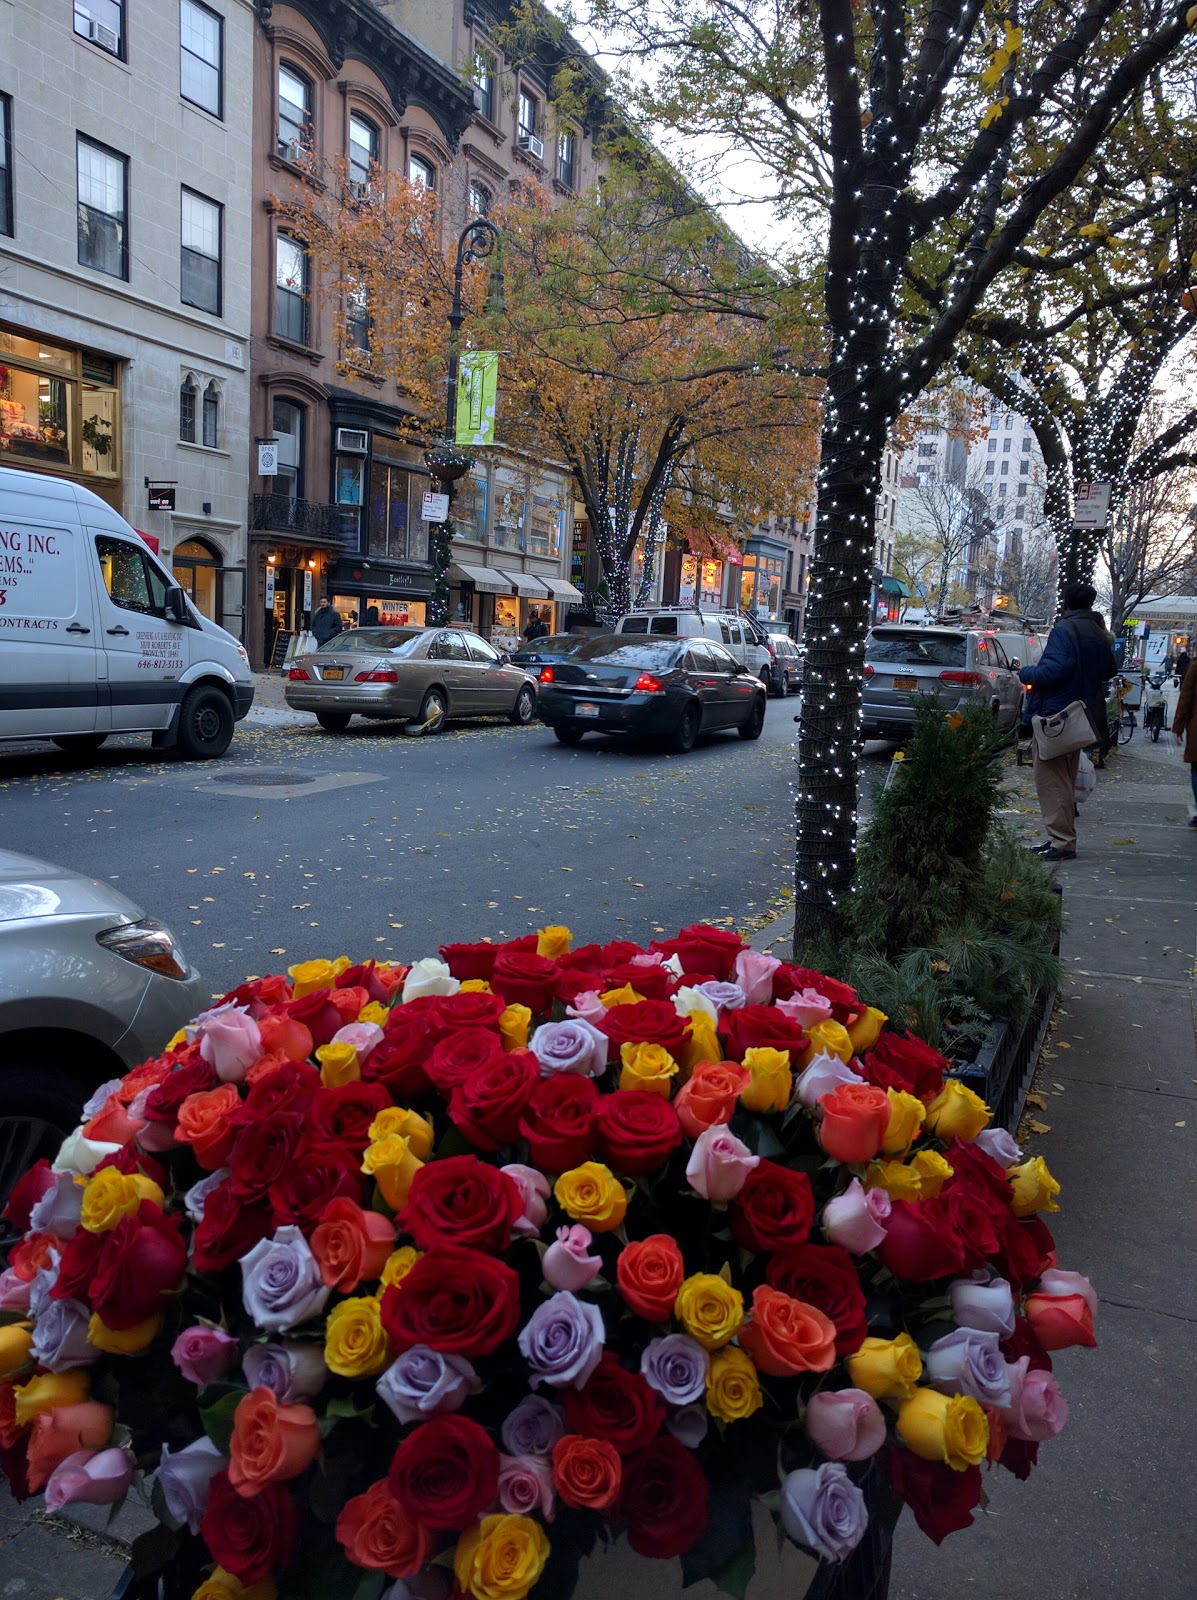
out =
[(541, 667), (536, 710), (562, 744), (578, 744), (594, 731), (690, 750), (699, 733), (720, 728), (759, 739), (765, 685), (706, 638), (608, 634)]

